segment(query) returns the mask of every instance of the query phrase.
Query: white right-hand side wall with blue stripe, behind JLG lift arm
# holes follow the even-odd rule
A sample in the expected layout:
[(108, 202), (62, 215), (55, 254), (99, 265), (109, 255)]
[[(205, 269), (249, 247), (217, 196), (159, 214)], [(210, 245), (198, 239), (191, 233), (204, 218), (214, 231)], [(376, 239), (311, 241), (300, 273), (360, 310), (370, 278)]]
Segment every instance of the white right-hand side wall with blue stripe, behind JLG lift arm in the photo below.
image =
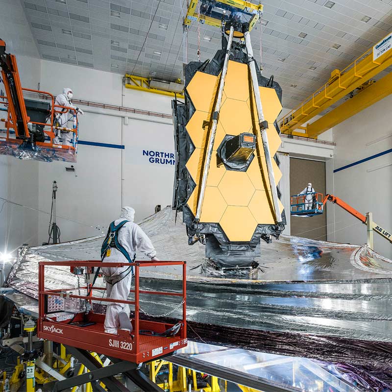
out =
[[(391, 105), (389, 96), (333, 127), (334, 170), (392, 148)], [(333, 182), (336, 196), (364, 215), (372, 212), (375, 222), (392, 229), (392, 153), (335, 172)], [(366, 226), (341, 208), (335, 206), (334, 210), (335, 240), (366, 243)], [(374, 246), (392, 258), (392, 245), (377, 234)]]

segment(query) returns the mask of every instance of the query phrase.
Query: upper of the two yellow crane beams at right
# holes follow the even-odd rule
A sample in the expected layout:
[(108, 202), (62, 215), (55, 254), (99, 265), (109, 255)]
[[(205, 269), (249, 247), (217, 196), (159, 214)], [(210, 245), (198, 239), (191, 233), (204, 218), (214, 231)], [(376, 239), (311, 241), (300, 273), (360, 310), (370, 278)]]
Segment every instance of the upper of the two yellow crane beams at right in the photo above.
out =
[[(391, 65), (392, 49), (387, 50), (376, 60), (373, 60), (373, 48), (367, 50), (343, 71), (335, 70), (327, 83), (281, 118), (278, 121), (281, 132), (297, 134), (294, 130), (300, 128), (300, 125), (308, 123), (320, 112)], [(312, 127), (309, 132), (307, 126), (306, 136), (316, 139), (324, 130), (323, 127)]]

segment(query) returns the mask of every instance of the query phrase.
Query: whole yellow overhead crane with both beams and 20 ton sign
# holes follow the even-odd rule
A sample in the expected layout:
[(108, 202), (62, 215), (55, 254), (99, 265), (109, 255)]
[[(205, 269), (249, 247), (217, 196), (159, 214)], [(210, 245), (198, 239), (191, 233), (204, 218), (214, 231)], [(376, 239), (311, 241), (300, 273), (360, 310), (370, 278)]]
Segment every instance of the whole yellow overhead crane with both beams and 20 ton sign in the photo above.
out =
[[(384, 48), (384, 51), (380, 51)], [(331, 78), (297, 108), (278, 121), (282, 133), (305, 136), (313, 139), (332, 126), (360, 112), (371, 104), (392, 93), (392, 74), (388, 74), (376, 83), (370, 79), (392, 65), (392, 35), (387, 35), (373, 48), (358, 57), (343, 71), (334, 70)], [(369, 81), (368, 83), (366, 83)], [(330, 107), (339, 99), (355, 89), (358, 94), (309, 124), (309, 120)], [(306, 127), (301, 127), (307, 124)], [(295, 132), (304, 129), (305, 133)]]

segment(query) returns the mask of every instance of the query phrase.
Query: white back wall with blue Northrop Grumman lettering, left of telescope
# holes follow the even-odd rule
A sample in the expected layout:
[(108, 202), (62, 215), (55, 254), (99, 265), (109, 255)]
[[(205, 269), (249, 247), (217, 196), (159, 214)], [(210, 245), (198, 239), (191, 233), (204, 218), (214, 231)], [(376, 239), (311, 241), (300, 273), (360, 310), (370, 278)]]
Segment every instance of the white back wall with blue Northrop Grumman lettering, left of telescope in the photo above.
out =
[[(53, 74), (61, 77), (53, 78)], [(58, 94), (66, 86), (76, 99), (171, 113), (171, 98), (125, 89), (119, 74), (43, 60), (41, 89)], [(125, 124), (124, 113), (81, 108), (85, 114), (79, 116), (79, 140), (124, 149), (79, 145), (75, 173), (66, 172), (69, 163), (38, 164), (41, 210), (50, 210), (52, 181), (58, 182), (61, 241), (98, 234), (96, 227), (116, 219), (122, 205), (134, 206), (139, 221), (153, 214), (156, 204), (172, 203), (174, 165), (155, 163), (155, 159), (151, 163), (143, 155), (143, 150), (152, 150), (162, 152), (164, 159), (165, 153), (174, 153), (172, 120), (128, 114)], [(40, 213), (39, 242), (48, 240), (48, 226), (49, 216)]]

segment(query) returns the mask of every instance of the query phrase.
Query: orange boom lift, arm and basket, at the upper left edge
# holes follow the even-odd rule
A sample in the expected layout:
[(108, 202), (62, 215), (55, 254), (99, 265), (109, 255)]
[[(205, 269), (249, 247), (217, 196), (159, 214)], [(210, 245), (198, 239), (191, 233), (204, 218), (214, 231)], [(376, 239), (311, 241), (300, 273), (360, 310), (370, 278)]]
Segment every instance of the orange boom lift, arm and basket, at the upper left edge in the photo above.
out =
[[(22, 159), (26, 159), (29, 151), (31, 158), (52, 161), (62, 160), (67, 162), (76, 162), (77, 152), (77, 113), (74, 108), (67, 106), (55, 105), (55, 97), (40, 90), (23, 88), (20, 81), (16, 57), (13, 54), (5, 53), (5, 42), (0, 39), (0, 67), (1, 77), (4, 84), (5, 95), (0, 94), (0, 122), (5, 123), (5, 136), (0, 136), (0, 152), (3, 154), (14, 155)], [(24, 93), (37, 96), (40, 101), (29, 101), (34, 104), (42, 104), (46, 109), (41, 108), (35, 110), (35, 113), (41, 111), (45, 113), (43, 118), (47, 122), (34, 121), (28, 115), (29, 110), (26, 109), (26, 98)], [(50, 102), (50, 105), (49, 105)], [(45, 105), (46, 103), (46, 105)], [(2, 106), (2, 107), (1, 107)], [(30, 109), (30, 111), (33, 109)], [(60, 127), (55, 124), (57, 114), (68, 111), (71, 115), (74, 113), (75, 123), (72, 128)], [(1, 115), (4, 113), (4, 115)], [(40, 116), (42, 118), (42, 114)], [(70, 116), (71, 117), (71, 116)], [(34, 132), (28, 128), (31, 123), (34, 129), (42, 130), (45, 140), (37, 141)], [(74, 143), (72, 146), (62, 146), (53, 144), (55, 131), (73, 132)], [(15, 135), (14, 135), (15, 134)], [(37, 148), (38, 147), (38, 148)], [(25, 150), (25, 154), (23, 151)]]

